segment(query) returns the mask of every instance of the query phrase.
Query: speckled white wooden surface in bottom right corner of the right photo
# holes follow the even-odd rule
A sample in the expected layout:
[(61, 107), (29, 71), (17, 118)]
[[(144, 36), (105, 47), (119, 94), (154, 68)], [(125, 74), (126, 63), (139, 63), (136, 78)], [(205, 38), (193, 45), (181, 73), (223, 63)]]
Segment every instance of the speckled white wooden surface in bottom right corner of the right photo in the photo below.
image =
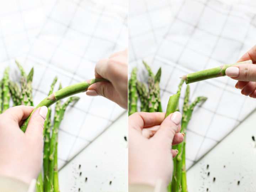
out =
[(255, 122), (256, 111), (187, 171), (189, 192), (256, 191)]

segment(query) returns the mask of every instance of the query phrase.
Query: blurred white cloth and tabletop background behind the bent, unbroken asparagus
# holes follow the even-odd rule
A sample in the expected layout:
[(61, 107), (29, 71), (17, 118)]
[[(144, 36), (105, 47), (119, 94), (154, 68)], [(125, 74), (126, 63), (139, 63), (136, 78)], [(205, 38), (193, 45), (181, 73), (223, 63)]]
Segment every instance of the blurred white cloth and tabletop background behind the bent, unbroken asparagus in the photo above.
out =
[[(48, 95), (55, 76), (55, 90), (60, 82), (66, 87), (92, 79), (98, 60), (127, 48), (127, 14), (126, 0), (2, 0), (0, 74), (9, 66), (10, 79), (19, 81), (15, 60), (27, 73), (34, 67), (37, 105)], [(118, 121), (120, 130), (100, 136), (103, 139), (90, 145), (90, 152), (78, 155), (116, 119), (127, 117), (125, 110), (103, 97), (78, 96), (80, 100), (67, 108), (59, 130), (60, 190), (127, 191), (126, 118)]]

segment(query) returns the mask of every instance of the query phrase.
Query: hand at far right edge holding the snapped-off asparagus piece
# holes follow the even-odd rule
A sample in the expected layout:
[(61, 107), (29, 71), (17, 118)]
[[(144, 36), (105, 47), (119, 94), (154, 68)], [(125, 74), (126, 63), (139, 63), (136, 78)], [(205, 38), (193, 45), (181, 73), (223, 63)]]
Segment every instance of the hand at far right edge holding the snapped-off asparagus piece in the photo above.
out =
[[(238, 62), (252, 60), (256, 63), (256, 45), (247, 51)], [(238, 64), (226, 69), (226, 75), (232, 79), (238, 80), (235, 87), (241, 89), (241, 94), (256, 98), (256, 65)]]

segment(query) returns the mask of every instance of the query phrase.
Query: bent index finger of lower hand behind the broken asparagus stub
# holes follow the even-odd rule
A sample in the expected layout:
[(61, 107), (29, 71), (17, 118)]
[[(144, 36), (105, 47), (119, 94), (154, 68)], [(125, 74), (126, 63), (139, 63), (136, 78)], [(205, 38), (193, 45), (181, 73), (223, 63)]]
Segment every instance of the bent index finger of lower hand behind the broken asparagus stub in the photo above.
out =
[(140, 132), (145, 127), (160, 125), (165, 119), (163, 112), (137, 112), (129, 116), (129, 127), (133, 127)]

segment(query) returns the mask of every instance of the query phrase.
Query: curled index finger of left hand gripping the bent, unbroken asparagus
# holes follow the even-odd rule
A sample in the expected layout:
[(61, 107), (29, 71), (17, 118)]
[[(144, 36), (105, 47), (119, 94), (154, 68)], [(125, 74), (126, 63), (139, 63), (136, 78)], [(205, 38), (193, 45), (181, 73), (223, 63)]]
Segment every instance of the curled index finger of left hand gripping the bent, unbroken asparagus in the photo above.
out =
[(21, 120), (27, 119), (33, 110), (33, 106), (15, 106), (7, 109), (4, 113), (2, 113), (1, 118), (3, 118), (5, 122), (8, 121), (8, 123), (17, 124)]

